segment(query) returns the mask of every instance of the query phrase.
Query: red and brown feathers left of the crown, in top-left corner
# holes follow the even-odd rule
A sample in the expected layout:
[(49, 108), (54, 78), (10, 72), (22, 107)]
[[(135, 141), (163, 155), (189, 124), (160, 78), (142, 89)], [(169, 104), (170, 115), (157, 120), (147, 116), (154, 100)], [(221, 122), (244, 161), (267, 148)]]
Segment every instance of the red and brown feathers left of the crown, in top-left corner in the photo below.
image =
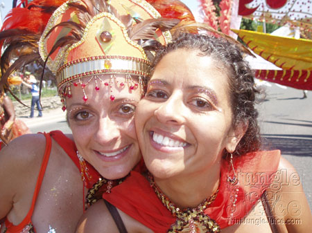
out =
[[(5, 20), (0, 31), (1, 54), (1, 82), (0, 87), (10, 91), (8, 77), (17, 69), (40, 62), (37, 42), (56, 8), (65, 0), (34, 0), (25, 1), (25, 8), (13, 8)], [(11, 91), (10, 93), (15, 96)], [(17, 100), (18, 97), (15, 96)]]

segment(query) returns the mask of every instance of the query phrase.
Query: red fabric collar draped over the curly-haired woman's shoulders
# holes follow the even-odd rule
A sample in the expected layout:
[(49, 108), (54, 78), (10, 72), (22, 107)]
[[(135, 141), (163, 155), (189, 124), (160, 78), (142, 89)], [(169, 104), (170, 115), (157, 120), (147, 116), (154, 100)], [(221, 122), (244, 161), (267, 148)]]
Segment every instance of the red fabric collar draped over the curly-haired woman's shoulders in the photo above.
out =
[[(216, 221), (221, 229), (237, 223), (250, 212), (272, 182), (279, 159), (278, 150), (258, 151), (234, 158), (234, 168), (236, 174), (239, 174), (239, 183), (235, 186), (227, 182), (229, 163), (223, 160), (219, 192), (205, 214)], [(235, 193), (235, 207), (232, 203), (233, 188), (239, 189)], [(132, 171), (129, 178), (112, 189), (111, 194), (103, 194), (103, 198), (156, 233), (167, 232), (176, 221), (159, 200), (153, 187), (150, 187), (148, 180), (138, 172)]]

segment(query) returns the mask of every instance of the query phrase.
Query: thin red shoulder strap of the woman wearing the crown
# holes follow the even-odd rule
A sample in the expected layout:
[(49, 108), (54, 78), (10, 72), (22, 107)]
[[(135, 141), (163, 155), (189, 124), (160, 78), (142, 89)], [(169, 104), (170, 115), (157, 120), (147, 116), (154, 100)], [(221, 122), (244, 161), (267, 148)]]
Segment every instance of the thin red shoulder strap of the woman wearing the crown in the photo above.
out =
[(40, 192), (40, 187), (42, 185), (42, 180), (44, 178), (44, 173), (46, 171), (46, 166), (48, 165), (48, 162), (49, 162), (50, 153), (51, 153), (51, 147), (52, 147), (52, 140), (51, 140), (50, 135), (47, 134), (47, 133), (44, 133), (44, 136), (46, 137), (46, 149), (44, 151), (44, 158), (42, 160), (42, 165), (41, 165), (40, 172), (39, 172), (39, 175), (38, 175), (38, 178), (37, 178), (35, 192), (33, 194), (33, 201), (31, 203), (31, 209), (29, 209), (28, 214), (23, 219), (23, 221), (21, 221), (21, 223), (19, 223), (19, 225), (13, 225), (12, 223), (10, 223), (10, 221), (8, 221), (8, 218), (6, 218), (5, 223), (6, 223), (6, 227), (8, 228), (6, 233), (21, 232), (21, 230), (23, 230), (26, 225), (31, 223), (31, 216), (33, 216), (33, 209), (35, 208), (35, 203), (37, 201), (37, 196), (38, 196), (38, 194)]

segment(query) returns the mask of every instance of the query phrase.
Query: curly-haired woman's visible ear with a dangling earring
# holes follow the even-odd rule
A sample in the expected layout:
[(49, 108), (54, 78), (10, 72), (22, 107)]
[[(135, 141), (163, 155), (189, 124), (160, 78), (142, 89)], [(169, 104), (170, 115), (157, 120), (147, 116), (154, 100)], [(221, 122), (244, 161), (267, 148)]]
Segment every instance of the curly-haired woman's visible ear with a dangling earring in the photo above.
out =
[(239, 144), (239, 141), (245, 135), (246, 130), (248, 129), (248, 122), (239, 122), (236, 127), (232, 127), (227, 135), (227, 145), (225, 149), (227, 152), (233, 153), (236, 149), (236, 146)]

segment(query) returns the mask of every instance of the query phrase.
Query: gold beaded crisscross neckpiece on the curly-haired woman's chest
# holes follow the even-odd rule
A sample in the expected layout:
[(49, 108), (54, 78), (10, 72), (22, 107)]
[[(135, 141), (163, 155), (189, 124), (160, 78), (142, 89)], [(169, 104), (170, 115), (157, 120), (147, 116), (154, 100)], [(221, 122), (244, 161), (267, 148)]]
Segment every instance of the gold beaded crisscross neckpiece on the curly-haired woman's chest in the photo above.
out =
[(169, 198), (162, 193), (162, 191), (157, 187), (152, 174), (148, 173), (148, 181), (150, 182), (150, 187), (153, 187), (155, 193), (157, 194), (163, 205), (171, 212), (173, 216), (177, 217), (177, 220), (168, 233), (175, 232), (187, 232), (187, 227), (189, 228), (189, 233), (201, 232), (200, 227), (205, 232), (220, 232), (220, 227), (216, 221), (211, 219), (205, 214), (205, 209), (216, 199), (218, 194), (218, 189), (209, 198), (206, 198), (200, 205), (195, 208), (180, 209), (173, 204)]

